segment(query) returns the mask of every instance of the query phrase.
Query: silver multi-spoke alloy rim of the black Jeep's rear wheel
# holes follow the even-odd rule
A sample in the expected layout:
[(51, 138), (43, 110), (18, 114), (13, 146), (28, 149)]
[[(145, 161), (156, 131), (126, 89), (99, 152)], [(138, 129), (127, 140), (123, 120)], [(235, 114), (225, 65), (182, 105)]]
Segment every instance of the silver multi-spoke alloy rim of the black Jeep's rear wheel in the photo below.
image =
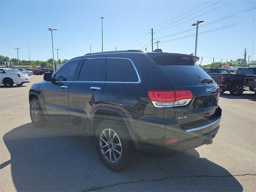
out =
[(116, 163), (122, 156), (122, 144), (119, 136), (112, 129), (104, 129), (100, 134), (100, 150), (106, 160)]

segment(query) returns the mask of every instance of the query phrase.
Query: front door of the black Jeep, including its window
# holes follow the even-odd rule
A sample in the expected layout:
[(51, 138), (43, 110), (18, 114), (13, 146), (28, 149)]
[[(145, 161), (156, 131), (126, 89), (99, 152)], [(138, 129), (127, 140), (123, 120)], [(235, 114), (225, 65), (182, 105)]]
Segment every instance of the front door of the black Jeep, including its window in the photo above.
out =
[(54, 74), (56, 82), (47, 82), (44, 87), (44, 105), (48, 116), (66, 120), (68, 115), (68, 89), (76, 75), (81, 59), (71, 60)]

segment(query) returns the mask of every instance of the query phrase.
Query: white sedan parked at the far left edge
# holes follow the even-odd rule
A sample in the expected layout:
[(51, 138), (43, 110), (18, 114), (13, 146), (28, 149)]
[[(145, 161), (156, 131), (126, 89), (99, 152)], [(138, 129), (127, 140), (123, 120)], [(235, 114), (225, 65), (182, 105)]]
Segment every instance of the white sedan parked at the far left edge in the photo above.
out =
[(22, 86), (24, 83), (29, 83), (30, 78), (27, 73), (18, 72), (14, 69), (0, 68), (0, 84), (11, 87), (13, 84)]

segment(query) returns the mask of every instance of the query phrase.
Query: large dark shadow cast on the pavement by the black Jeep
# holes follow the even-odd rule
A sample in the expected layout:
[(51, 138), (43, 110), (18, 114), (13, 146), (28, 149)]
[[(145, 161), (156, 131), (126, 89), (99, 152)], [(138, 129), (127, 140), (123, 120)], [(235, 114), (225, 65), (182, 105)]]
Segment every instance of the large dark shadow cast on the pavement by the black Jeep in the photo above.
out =
[[(105, 186), (120, 186), (121, 190), (122, 183), (140, 186), (145, 182), (150, 184), (144, 191), (243, 190), (227, 170), (200, 158), (196, 150), (170, 158), (139, 157), (134, 166), (112, 172), (100, 162), (92, 137), (64, 124), (36, 128), (28, 123), (6, 133), (3, 139), (11, 159), (1, 168), (11, 164), (18, 191), (109, 191), (111, 188)], [(211, 176), (220, 180), (216, 182)], [(225, 182), (218, 182), (221, 180)], [(127, 190), (140, 191), (140, 187)]]

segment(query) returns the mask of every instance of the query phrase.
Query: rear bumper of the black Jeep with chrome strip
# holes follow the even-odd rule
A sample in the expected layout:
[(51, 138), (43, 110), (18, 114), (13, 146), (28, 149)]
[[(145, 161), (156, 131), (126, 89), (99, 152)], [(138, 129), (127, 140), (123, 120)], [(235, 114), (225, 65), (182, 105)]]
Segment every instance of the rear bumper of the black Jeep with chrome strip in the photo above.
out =
[[(200, 126), (180, 128), (179, 124), (147, 126), (146, 133), (152, 136), (142, 139), (138, 136), (136, 146), (142, 155), (146, 156), (172, 156), (182, 150), (189, 150), (204, 144), (211, 144), (212, 139), (220, 128), (222, 110), (218, 107), (216, 116), (211, 122)], [(140, 128), (145, 129), (145, 128)], [(154, 132), (152, 132), (154, 130)], [(176, 144), (166, 145), (166, 139), (178, 138)]]

